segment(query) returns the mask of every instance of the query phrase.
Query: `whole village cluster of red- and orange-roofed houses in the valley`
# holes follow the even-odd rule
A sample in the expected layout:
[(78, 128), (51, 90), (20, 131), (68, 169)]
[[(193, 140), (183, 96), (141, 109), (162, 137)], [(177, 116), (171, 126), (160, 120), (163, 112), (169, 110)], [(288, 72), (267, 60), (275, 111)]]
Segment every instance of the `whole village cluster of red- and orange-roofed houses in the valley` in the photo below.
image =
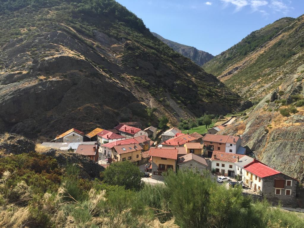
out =
[(182, 133), (175, 127), (142, 130), (141, 123), (127, 122), (86, 134), (72, 128), (41, 145), (85, 155), (104, 168), (114, 162), (132, 162), (148, 183), (163, 183), (163, 174), (169, 169), (192, 169), (227, 188), (241, 186), (243, 194), (256, 199), (296, 205), (299, 181), (258, 161), (248, 147), (241, 146), (241, 136), (221, 135), (219, 131), (225, 126), (212, 127), (200, 135)]

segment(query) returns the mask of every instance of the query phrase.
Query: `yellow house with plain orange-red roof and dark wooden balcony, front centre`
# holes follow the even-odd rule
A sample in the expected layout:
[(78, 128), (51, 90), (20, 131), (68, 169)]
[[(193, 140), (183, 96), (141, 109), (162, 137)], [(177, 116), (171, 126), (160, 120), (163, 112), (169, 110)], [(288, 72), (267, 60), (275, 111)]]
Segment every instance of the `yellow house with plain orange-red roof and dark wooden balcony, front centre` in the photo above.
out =
[(149, 150), (149, 156), (152, 157), (152, 178), (163, 179), (161, 174), (168, 169), (172, 169), (176, 172), (177, 154), (177, 149), (151, 147)]

